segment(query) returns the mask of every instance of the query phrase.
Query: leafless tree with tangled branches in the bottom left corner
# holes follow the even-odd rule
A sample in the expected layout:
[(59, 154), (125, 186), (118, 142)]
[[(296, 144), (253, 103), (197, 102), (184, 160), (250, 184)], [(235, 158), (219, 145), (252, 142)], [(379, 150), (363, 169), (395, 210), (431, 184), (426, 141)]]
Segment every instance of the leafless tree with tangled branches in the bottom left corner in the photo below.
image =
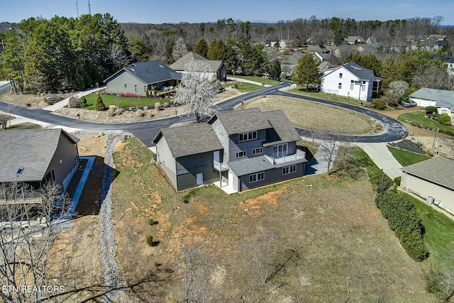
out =
[[(52, 285), (55, 266), (67, 258), (65, 247), (51, 249), (58, 228), (54, 219), (57, 185), (45, 184), (38, 196), (27, 184), (0, 184), (0, 297), (6, 302), (41, 302), (64, 292)], [(65, 217), (67, 198), (60, 197)]]

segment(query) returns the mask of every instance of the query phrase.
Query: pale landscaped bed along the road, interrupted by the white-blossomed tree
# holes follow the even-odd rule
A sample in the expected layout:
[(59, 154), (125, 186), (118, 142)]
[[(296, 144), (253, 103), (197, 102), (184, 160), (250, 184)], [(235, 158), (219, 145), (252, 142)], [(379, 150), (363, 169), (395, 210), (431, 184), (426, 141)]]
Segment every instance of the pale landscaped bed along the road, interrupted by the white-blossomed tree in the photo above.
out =
[[(218, 94), (216, 97), (216, 104), (227, 99), (236, 97), (240, 94), (236, 89), (225, 89), (221, 94)], [(143, 110), (143, 108), (142, 108)], [(155, 111), (154, 108), (147, 109), (145, 111), (144, 116), (137, 116), (135, 113), (135, 109), (131, 111), (129, 109), (123, 109), (123, 112), (120, 115), (115, 115), (109, 117), (108, 111), (91, 111), (89, 109), (72, 109), (62, 107), (54, 111), (54, 114), (58, 114), (61, 116), (67, 116), (72, 119), (80, 119), (83, 121), (94, 122), (94, 123), (114, 123), (114, 124), (121, 124), (121, 123), (135, 123), (135, 122), (143, 122), (143, 121), (150, 121), (150, 120), (157, 120), (168, 118), (171, 116), (177, 116), (179, 110), (179, 106), (169, 106), (167, 108), (161, 107), (159, 111)], [(147, 113), (153, 113), (153, 116)], [(79, 116), (77, 116), (79, 115)]]

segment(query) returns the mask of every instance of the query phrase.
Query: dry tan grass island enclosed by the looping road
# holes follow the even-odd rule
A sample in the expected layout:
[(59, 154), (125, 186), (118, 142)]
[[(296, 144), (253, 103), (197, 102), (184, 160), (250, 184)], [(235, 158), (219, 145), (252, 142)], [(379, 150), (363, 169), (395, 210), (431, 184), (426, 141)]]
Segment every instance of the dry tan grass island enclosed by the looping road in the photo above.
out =
[(377, 133), (382, 129), (380, 123), (365, 115), (301, 99), (260, 97), (246, 102), (244, 107), (259, 107), (262, 111), (282, 109), (294, 126), (304, 129), (333, 129), (351, 135)]

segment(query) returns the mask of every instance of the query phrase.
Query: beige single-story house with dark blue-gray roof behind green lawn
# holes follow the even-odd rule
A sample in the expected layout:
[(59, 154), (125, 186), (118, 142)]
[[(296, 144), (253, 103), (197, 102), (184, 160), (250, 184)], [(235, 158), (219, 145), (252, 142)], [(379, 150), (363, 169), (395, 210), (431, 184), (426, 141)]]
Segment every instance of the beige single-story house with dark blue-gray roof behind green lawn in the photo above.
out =
[(146, 97), (152, 91), (175, 87), (182, 75), (159, 60), (137, 62), (104, 80), (110, 94), (131, 93)]

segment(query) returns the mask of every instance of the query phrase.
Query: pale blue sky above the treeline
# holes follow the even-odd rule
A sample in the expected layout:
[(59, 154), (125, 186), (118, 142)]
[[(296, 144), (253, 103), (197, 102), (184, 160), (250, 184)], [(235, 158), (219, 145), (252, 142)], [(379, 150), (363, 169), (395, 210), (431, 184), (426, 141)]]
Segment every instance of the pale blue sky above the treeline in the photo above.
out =
[[(433, 18), (454, 25), (453, 0), (2, 0), (0, 22), (19, 22), (30, 17), (77, 17), (110, 13), (120, 23), (201, 23), (233, 18), (237, 21), (292, 21), (297, 18), (353, 18), (361, 20)], [(76, 6), (77, 2), (77, 6)]]

